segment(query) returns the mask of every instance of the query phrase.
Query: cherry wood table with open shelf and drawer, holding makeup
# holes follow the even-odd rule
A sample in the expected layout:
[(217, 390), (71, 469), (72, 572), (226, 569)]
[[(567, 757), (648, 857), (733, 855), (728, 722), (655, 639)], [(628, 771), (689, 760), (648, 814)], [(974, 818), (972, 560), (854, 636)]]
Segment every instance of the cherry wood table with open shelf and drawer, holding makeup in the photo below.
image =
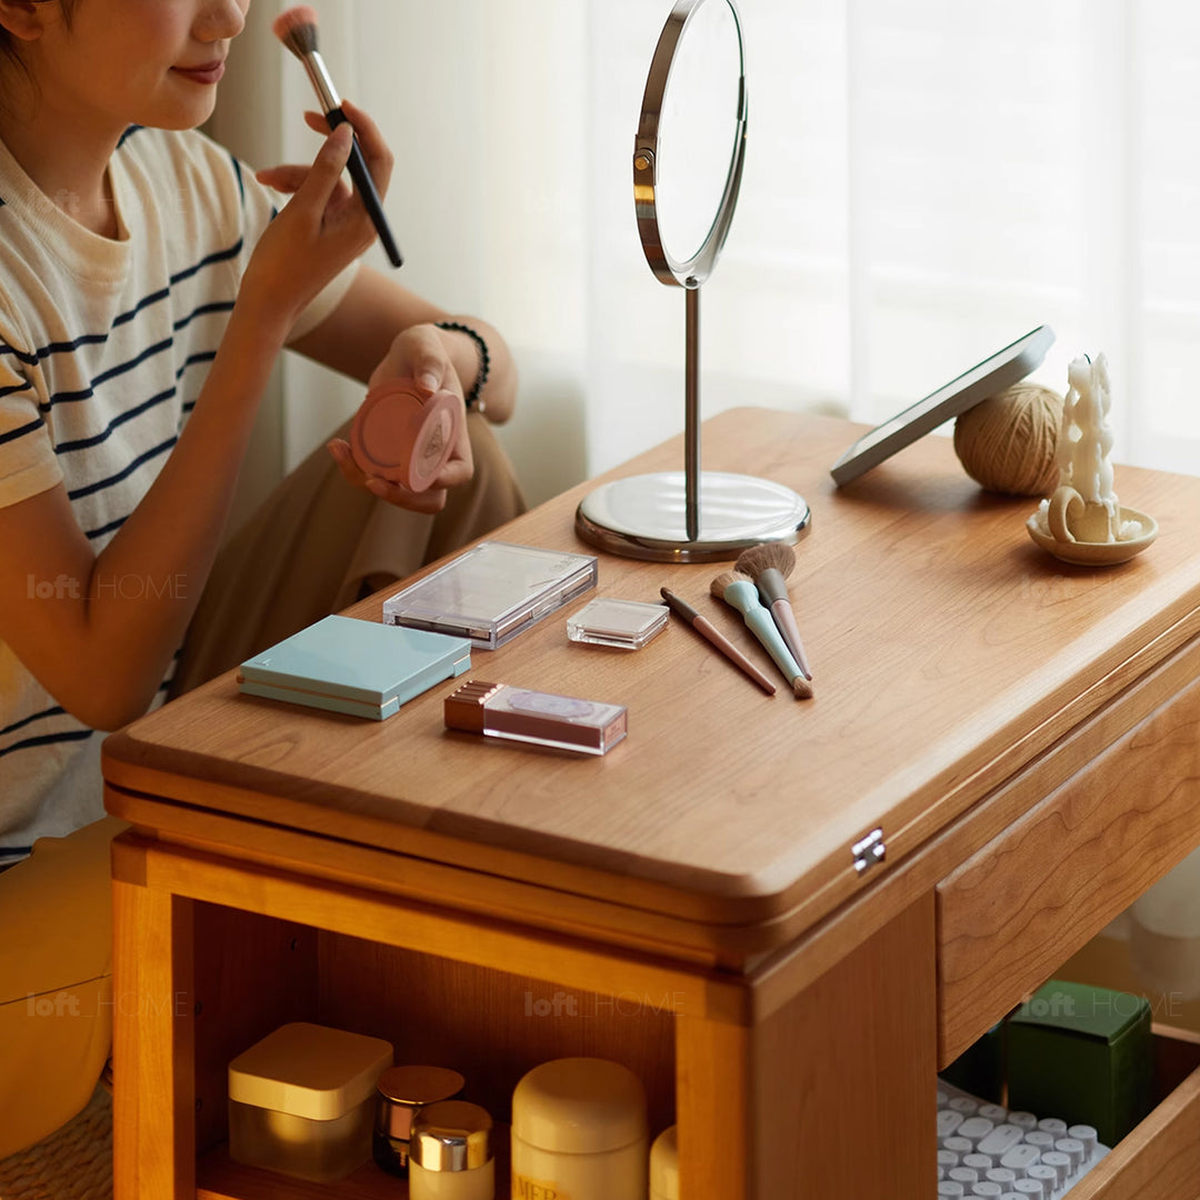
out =
[[(373, 722), (230, 673), (108, 738), (133, 827), (118, 1200), (404, 1194), (373, 1164), (317, 1186), (228, 1159), (228, 1061), (298, 1019), (457, 1067), (500, 1122), (536, 1062), (618, 1058), (653, 1132), (678, 1121), (684, 1196), (932, 1194), (937, 1069), (1200, 842), (1200, 480), (1118, 467), (1159, 538), (1069, 566), (942, 437), (835, 490), (862, 432), (756, 409), (704, 430), (707, 468), (812, 508), (791, 578), (812, 700), (674, 618), (637, 652), (570, 643), (584, 596), (470, 676), (628, 704), (605, 757), (448, 732), (454, 682)], [(604, 479), (680, 461), (674, 440)], [(587, 551), (590, 486), (494, 536)], [(667, 584), (774, 671), (718, 569), (600, 556), (596, 594)], [(1195, 1049), (1160, 1040), (1162, 1103), (1073, 1198), (1200, 1194)]]

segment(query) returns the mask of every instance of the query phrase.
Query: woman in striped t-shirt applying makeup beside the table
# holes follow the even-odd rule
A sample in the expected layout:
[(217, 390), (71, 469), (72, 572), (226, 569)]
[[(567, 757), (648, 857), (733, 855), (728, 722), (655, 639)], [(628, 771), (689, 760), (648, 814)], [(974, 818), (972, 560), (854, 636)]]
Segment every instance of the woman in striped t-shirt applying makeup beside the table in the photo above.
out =
[[(310, 114), (312, 166), (257, 178), (194, 132), (248, 6), (0, 0), (0, 1157), (78, 1111), (108, 1052), (96, 731), (522, 508), (480, 415), (510, 415), (511, 356), (358, 265), (349, 127)], [(384, 194), (391, 156), (344, 109)], [(277, 214), (264, 185), (292, 193)], [(222, 550), (286, 344), (445, 388), (469, 432), (420, 494), (335, 438)]]

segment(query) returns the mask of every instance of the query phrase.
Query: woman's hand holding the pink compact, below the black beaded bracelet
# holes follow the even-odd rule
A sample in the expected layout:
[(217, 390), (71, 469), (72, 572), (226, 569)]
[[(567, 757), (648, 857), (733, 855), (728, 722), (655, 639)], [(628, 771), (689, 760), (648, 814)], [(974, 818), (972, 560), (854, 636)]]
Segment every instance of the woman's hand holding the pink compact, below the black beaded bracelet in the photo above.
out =
[[(413, 379), (424, 398), (434, 392), (452, 392), (458, 404), (463, 406), (462, 383), (454, 368), (438, 330), (433, 325), (413, 325), (398, 334), (392, 341), (383, 361), (371, 373), (368, 388), (374, 388), (385, 379)], [(349, 443), (334, 438), (328, 443), (342, 474), (355, 486), (378, 496), (389, 504), (414, 512), (440, 512), (445, 508), (446, 491), (470, 482), (475, 464), (470, 456), (470, 439), (467, 436), (466, 407), (460, 408), (457, 438), (454, 450), (437, 478), (424, 492), (410, 492), (400, 484), (367, 475), (354, 461)]]

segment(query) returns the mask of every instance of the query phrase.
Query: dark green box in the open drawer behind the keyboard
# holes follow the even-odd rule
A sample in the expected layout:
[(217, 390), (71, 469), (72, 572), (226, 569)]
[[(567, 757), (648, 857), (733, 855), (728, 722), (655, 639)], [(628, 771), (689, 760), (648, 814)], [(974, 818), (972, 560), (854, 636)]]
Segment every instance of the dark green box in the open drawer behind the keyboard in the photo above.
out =
[(1144, 996), (1051, 979), (1008, 1019), (1008, 1106), (1115, 1146), (1150, 1111), (1150, 1020)]

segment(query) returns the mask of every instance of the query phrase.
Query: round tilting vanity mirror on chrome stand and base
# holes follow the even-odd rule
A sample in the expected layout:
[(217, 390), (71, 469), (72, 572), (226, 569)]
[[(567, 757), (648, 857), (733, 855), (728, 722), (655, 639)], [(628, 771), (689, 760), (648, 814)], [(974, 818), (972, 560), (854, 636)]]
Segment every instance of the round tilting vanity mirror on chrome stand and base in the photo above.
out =
[(642, 98), (634, 209), (650, 269), (684, 289), (684, 470), (620, 479), (583, 499), (576, 532), (616, 554), (715, 562), (758, 542), (796, 541), (808, 528), (809, 506), (791, 488), (701, 470), (700, 287), (733, 221), (745, 138), (737, 6), (733, 0), (677, 0)]

